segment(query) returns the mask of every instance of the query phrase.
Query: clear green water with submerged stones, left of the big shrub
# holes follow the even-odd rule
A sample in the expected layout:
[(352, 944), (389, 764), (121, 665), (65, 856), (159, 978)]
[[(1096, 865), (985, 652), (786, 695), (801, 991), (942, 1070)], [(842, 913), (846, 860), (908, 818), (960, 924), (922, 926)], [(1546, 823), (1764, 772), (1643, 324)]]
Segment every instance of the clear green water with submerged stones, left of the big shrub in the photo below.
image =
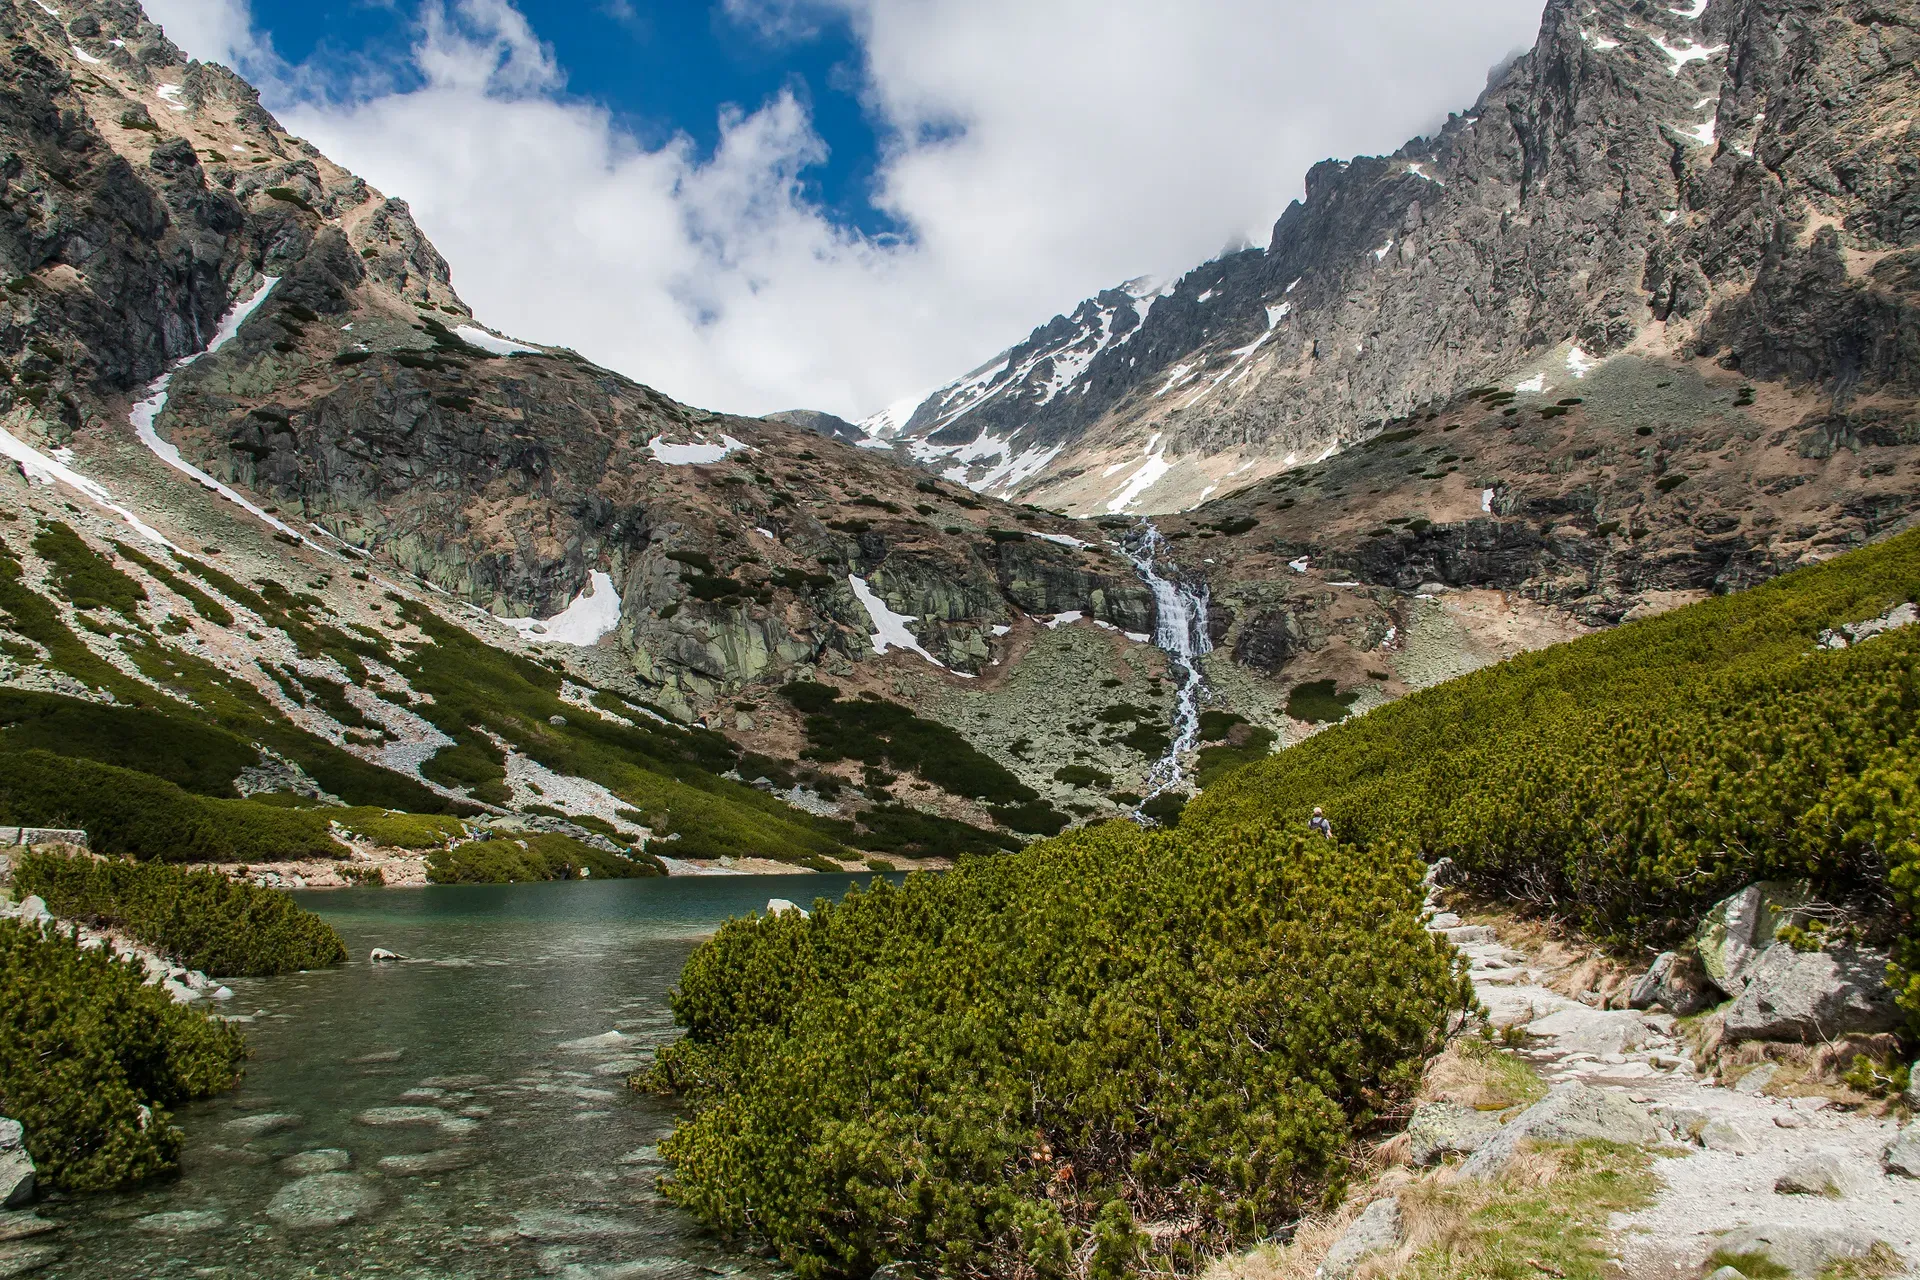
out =
[[(768, 898), (866, 877), (701, 875), (296, 894), (338, 969), (228, 983), (253, 1057), (184, 1107), (182, 1176), (54, 1197), (36, 1276), (699, 1280), (760, 1274), (653, 1190), (672, 1102), (626, 1077), (680, 967)], [(384, 946), (403, 963), (374, 965)], [(255, 1013), (257, 1009), (257, 1013)]]

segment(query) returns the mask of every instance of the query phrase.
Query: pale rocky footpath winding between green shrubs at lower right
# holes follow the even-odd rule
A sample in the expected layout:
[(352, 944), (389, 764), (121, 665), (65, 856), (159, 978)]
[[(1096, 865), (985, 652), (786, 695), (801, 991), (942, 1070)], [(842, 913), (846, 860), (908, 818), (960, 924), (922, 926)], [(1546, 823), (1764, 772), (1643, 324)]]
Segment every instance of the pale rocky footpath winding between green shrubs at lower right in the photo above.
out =
[(1828, 1098), (1768, 1094), (1766, 1065), (1728, 1080), (1703, 1073), (1672, 1015), (1569, 998), (1551, 984), (1563, 967), (1505, 946), (1488, 925), (1440, 912), (1428, 927), (1471, 961), (1494, 1027), (1524, 1031), (1519, 1054), (1553, 1086), (1534, 1111), (1599, 1090), (1622, 1134), (1636, 1117), (1657, 1130), (1659, 1199), (1613, 1222), (1624, 1276), (1701, 1274), (1716, 1249), (1768, 1253), (1814, 1276), (1876, 1242), (1905, 1261), (1895, 1274), (1920, 1276), (1920, 1125), (1901, 1132)]

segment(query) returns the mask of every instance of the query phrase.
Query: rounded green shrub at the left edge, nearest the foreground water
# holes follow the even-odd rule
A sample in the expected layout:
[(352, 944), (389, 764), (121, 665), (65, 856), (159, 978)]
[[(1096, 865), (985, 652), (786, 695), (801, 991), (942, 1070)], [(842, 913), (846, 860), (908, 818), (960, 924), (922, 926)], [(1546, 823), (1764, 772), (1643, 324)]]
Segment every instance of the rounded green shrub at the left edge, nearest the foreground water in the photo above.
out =
[(108, 1192), (173, 1173), (167, 1109), (240, 1080), (240, 1032), (144, 977), (104, 948), (0, 921), (0, 1115), (27, 1130), (48, 1186)]

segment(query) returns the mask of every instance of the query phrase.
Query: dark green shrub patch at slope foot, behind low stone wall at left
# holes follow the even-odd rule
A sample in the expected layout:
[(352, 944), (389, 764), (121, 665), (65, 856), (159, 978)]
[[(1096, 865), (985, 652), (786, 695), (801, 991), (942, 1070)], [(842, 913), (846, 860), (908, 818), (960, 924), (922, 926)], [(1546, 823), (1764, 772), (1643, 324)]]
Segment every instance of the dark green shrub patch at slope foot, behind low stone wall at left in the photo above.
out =
[(338, 858), (323, 812), (209, 800), (169, 781), (48, 750), (0, 752), (0, 821), (83, 827), (104, 854), (156, 862)]

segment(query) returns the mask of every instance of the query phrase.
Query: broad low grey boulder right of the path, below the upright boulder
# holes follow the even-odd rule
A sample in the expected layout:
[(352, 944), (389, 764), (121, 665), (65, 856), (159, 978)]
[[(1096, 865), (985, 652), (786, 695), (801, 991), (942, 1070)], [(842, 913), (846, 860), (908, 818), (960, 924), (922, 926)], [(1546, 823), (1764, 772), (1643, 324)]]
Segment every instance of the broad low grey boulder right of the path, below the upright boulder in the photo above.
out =
[(1726, 1011), (1726, 1038), (1832, 1040), (1893, 1031), (1907, 1015), (1885, 983), (1887, 958), (1864, 948), (1797, 952), (1774, 942)]

